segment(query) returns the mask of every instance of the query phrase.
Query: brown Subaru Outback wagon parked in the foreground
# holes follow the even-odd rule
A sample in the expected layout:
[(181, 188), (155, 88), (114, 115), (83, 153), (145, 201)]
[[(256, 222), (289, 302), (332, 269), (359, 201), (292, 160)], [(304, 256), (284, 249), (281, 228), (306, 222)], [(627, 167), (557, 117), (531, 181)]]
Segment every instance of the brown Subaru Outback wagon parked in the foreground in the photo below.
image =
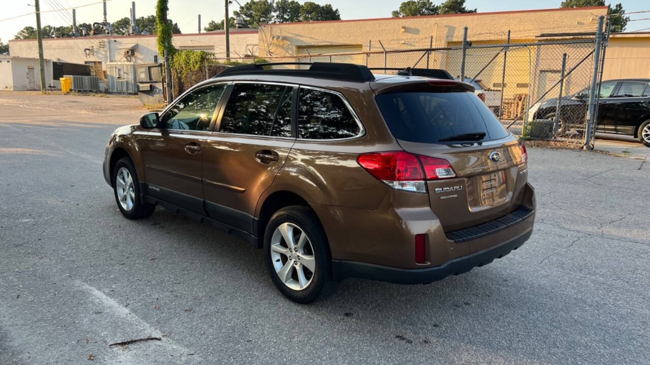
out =
[(237, 234), (299, 303), (345, 277), (431, 283), (528, 240), (526, 148), (471, 85), (304, 67), (235, 66), (117, 129), (103, 173), (122, 214), (161, 205)]

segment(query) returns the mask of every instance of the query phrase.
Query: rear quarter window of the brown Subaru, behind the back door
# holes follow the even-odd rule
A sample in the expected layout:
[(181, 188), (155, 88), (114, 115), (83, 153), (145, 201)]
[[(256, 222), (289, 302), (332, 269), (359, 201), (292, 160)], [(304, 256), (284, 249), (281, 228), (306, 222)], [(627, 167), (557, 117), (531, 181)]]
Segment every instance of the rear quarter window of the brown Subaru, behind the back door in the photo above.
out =
[(361, 127), (340, 95), (300, 88), (298, 138), (332, 140), (359, 135)]

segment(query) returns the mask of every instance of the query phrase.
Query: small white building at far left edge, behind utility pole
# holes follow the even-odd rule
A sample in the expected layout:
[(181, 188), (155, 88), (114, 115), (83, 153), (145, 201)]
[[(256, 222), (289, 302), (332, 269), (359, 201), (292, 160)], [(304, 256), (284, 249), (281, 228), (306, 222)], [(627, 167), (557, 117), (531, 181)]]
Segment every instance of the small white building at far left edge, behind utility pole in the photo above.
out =
[[(52, 81), (52, 61), (45, 59), (48, 81)], [(0, 56), (0, 90), (40, 90), (38, 57)]]

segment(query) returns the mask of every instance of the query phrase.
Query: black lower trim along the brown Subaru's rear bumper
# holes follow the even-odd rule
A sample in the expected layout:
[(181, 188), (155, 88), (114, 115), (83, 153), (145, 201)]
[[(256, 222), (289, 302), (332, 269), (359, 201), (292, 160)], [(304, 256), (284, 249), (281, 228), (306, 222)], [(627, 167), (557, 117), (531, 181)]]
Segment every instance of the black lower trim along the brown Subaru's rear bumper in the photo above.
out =
[(530, 238), (531, 234), (532, 227), (526, 233), (510, 241), (493, 245), (467, 256), (454, 258), (441, 266), (433, 268), (400, 269), (365, 262), (332, 260), (332, 270), (336, 279), (359, 277), (361, 279), (387, 281), (396, 284), (428, 284), (444, 279), (449, 275), (467, 272), (476, 266), (489, 264), (495, 258), (504, 257), (513, 249), (521, 247)]

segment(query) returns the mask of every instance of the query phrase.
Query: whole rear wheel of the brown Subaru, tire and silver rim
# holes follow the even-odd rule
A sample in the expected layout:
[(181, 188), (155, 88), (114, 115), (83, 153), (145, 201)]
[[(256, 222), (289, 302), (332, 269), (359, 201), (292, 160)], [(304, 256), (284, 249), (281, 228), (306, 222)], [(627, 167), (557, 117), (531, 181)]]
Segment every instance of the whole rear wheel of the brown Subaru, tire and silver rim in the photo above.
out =
[(296, 303), (324, 299), (337, 286), (325, 232), (307, 207), (293, 205), (273, 214), (266, 225), (264, 258), (273, 283)]

